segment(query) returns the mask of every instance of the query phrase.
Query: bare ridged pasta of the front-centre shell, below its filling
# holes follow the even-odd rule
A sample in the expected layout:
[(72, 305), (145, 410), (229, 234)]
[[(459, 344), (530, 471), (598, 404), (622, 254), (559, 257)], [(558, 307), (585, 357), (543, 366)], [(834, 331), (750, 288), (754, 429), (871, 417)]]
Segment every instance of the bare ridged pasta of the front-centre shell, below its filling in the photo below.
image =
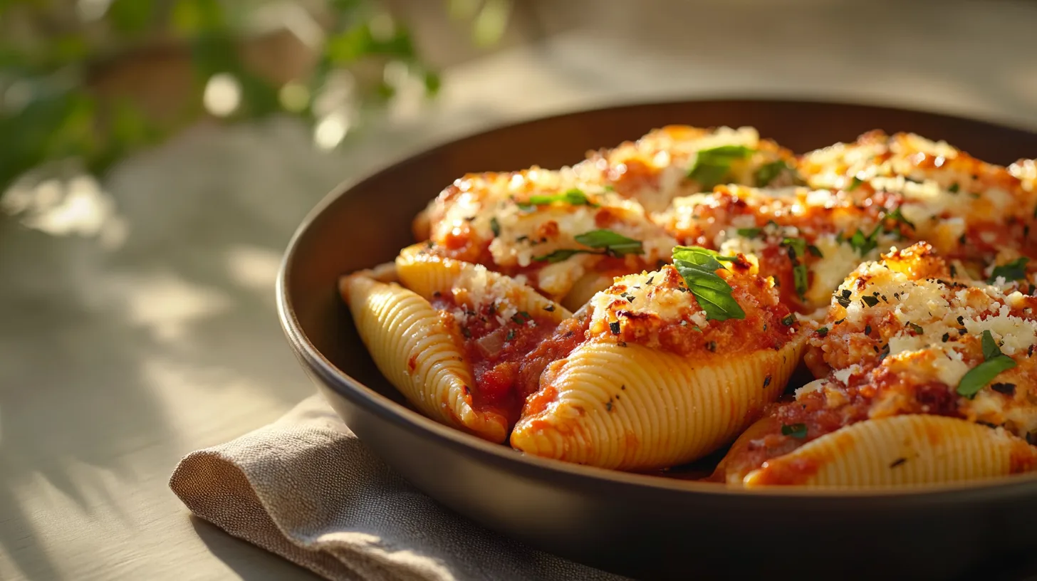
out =
[(581, 345), (541, 376), (546, 391), (527, 402), (511, 445), (618, 470), (691, 462), (733, 439), (778, 397), (804, 342), (800, 335), (780, 351), (704, 364), (635, 343)]

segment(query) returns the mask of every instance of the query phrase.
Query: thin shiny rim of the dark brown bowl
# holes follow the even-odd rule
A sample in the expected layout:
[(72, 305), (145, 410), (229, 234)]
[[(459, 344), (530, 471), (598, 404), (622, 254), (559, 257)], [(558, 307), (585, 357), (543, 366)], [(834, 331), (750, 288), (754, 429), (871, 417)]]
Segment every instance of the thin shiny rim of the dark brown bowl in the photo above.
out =
[(679, 478), (667, 478), (652, 474), (622, 472), (618, 470), (579, 465), (560, 460), (539, 458), (521, 452), (506, 445), (494, 444), (482, 440), (477, 436), (441, 424), (431, 418), (418, 413), (417, 411), (411, 410), (400, 404), (397, 404), (396, 402), (393, 402), (389, 397), (382, 395), (377, 391), (356, 380), (345, 370), (339, 369), (334, 363), (326, 358), (324, 354), (320, 353), (320, 351), (310, 341), (310, 339), (306, 336), (306, 333), (303, 331), (296, 315), (291, 293), (289, 290), (292, 266), (295, 264), (297, 252), (299, 251), (300, 242), (307, 236), (313, 223), (318, 220), (329, 206), (333, 205), (342, 198), (354, 195), (355, 192), (362, 190), (368, 183), (376, 181), (383, 175), (395, 171), (399, 165), (439, 154), (464, 142), (479, 140), (492, 135), (506, 133), (527, 126), (551, 123), (565, 117), (604, 114), (610, 111), (618, 112), (628, 109), (706, 103), (746, 105), (782, 104), (793, 106), (824, 105), (850, 107), (856, 109), (868, 109), (875, 112), (885, 111), (888, 113), (907, 113), (935, 118), (943, 117), (949, 121), (974, 122), (1002, 131), (1007, 130), (1016, 133), (1033, 134), (1037, 137), (1037, 133), (1030, 130), (1003, 125), (998, 121), (956, 114), (930, 112), (921, 109), (892, 107), (880, 104), (875, 105), (868, 102), (852, 102), (843, 100), (768, 99), (757, 96), (638, 101), (633, 103), (605, 105), (590, 109), (577, 108), (546, 116), (535, 116), (513, 122), (497, 123), (483, 131), (468, 133), (460, 137), (440, 140), (436, 144), (423, 148), (417, 154), (395, 157), (388, 163), (383, 163), (374, 170), (367, 171), (354, 177), (345, 178), (335, 186), (319, 202), (314, 205), (305, 218), (303, 218), (286, 246), (278, 270), (275, 285), (278, 320), (280, 321), (281, 328), (288, 340), (289, 345), (296, 352), (297, 356), (301, 358), (303, 364), (308, 366), (310, 370), (314, 371), (326, 386), (333, 389), (339, 395), (349, 399), (353, 404), (364, 408), (367, 412), (373, 413), (384, 420), (403, 427), (417, 436), (435, 439), (440, 444), (454, 449), (464, 450), (469, 454), (477, 454), (478, 460), (482, 462), (489, 462), (498, 465), (509, 465), (514, 469), (525, 471), (535, 471), (541, 475), (555, 479), (571, 479), (573, 481), (579, 481), (583, 486), (608, 483), (636, 487), (656, 491), (661, 494), (704, 495), (710, 500), (716, 501), (720, 501), (722, 499), (761, 499), (761, 501), (769, 502), (775, 499), (794, 499), (797, 503), (807, 502), (817, 508), (823, 508), (825, 505), (833, 503), (841, 504), (847, 500), (852, 500), (857, 503), (865, 502), (876, 506), (895, 506), (906, 503), (918, 505), (920, 502), (961, 503), (981, 499), (986, 501), (992, 499), (1009, 500), (1020, 496), (1037, 495), (1037, 472), (945, 485), (872, 489), (764, 487), (762, 489), (747, 490), (730, 488), (717, 482), (702, 482)]

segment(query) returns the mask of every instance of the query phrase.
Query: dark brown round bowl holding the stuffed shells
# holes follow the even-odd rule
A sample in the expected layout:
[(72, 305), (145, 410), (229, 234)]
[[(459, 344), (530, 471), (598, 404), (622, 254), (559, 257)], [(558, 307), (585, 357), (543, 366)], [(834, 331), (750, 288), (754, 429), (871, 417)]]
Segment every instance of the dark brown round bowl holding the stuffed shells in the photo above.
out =
[[(914, 131), (989, 162), (1037, 156), (1037, 134), (898, 109), (788, 101), (637, 105), (468, 137), (335, 190), (287, 249), (281, 324), (351, 428), (444, 505), (531, 546), (639, 578), (786, 576), (988, 579), (1037, 548), (1037, 477), (885, 493), (732, 491), (524, 455), (401, 404), (338, 297), (343, 273), (391, 260), (411, 220), (471, 171), (560, 167), (670, 123), (754, 126), (797, 151), (871, 129)], [(1004, 575), (1002, 573), (1001, 575)]]

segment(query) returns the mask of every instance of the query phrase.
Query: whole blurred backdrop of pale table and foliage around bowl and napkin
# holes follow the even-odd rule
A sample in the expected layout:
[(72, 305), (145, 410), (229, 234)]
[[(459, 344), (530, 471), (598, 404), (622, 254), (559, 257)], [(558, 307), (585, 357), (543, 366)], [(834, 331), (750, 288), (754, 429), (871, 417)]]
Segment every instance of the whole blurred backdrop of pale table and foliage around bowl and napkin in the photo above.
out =
[(273, 281), (337, 183), (635, 101), (1037, 129), (1035, 30), (1032, 0), (0, 0), (0, 579), (301, 575), (166, 481), (311, 393)]

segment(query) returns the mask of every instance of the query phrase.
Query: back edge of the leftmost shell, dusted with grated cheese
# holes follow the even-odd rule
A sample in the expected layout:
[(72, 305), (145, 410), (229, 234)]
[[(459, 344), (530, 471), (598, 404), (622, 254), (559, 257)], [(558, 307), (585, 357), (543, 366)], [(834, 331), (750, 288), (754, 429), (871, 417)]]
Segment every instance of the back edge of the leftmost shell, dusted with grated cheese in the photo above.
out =
[(481, 265), (422, 252), (423, 248), (422, 244), (404, 248), (396, 257), (396, 275), (403, 286), (425, 299), (430, 300), (438, 293), (449, 295), (454, 288), (463, 288), (473, 298), (506, 299), (518, 310), (536, 313), (537, 317), (556, 323), (572, 316), (561, 305), (509, 276)]

